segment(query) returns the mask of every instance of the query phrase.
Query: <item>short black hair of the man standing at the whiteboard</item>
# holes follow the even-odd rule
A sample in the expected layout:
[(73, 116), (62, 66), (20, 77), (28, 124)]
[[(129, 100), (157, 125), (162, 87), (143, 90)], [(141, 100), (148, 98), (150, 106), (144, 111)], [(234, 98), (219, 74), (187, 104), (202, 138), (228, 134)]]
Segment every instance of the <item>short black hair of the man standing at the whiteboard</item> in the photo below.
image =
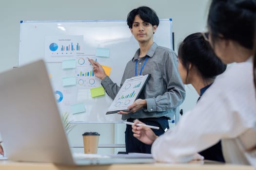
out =
[(145, 22), (148, 22), (152, 25), (159, 25), (159, 18), (156, 12), (147, 6), (141, 6), (133, 9), (127, 15), (127, 25), (129, 26), (129, 28), (133, 28), (133, 21), (135, 16), (137, 15), (139, 15), (139, 17)]

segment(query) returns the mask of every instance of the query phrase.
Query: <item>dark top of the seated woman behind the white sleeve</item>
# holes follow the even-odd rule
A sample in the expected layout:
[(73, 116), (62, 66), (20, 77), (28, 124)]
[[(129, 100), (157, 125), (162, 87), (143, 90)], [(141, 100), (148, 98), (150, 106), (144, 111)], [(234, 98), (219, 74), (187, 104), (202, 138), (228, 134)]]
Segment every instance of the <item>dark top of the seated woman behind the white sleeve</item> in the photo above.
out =
[[(211, 86), (207, 85), (203, 88), (200, 89), (200, 97), (203, 95), (203, 93)], [(198, 98), (198, 100), (200, 99), (200, 97)], [(198, 102), (197, 100), (197, 102)], [(217, 144), (213, 145), (210, 148), (207, 148), (201, 152), (199, 152), (200, 155), (202, 155), (204, 157), (204, 159), (207, 160), (213, 160), (213, 161), (218, 161), (218, 162), (225, 162), (223, 154), (222, 154), (222, 148), (221, 148), (221, 142), (218, 141)]]

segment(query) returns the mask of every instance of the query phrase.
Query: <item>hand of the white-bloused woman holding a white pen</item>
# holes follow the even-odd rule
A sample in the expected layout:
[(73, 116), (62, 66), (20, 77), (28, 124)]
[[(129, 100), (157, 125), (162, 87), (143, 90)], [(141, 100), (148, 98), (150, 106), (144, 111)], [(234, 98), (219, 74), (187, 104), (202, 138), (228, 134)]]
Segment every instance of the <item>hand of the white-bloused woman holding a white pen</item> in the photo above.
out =
[(136, 126), (136, 124), (138, 123), (145, 124), (139, 120), (136, 120), (134, 122), (134, 125), (132, 125), (132, 131), (134, 133), (133, 136), (147, 145), (152, 145), (152, 143), (158, 138), (158, 136), (156, 136), (155, 133), (149, 127)]

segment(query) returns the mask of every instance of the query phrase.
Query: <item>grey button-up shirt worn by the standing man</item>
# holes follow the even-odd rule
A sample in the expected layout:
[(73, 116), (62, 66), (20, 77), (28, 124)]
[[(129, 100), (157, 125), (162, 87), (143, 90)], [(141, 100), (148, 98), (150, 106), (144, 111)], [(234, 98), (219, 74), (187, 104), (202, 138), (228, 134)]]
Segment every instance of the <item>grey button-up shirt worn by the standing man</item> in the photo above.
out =
[[(135, 76), (135, 64), (137, 60), (137, 74), (148, 57), (142, 70), (142, 75), (151, 74), (138, 99), (145, 99), (147, 107), (138, 110), (136, 113), (122, 115), (122, 119), (129, 118), (159, 118), (165, 116), (171, 118), (176, 113), (176, 108), (185, 99), (185, 89), (178, 73), (177, 55), (174, 51), (160, 47), (154, 43), (147, 55), (139, 58), (139, 49), (136, 51), (124, 70), (121, 85), (128, 78)], [(101, 81), (107, 94), (114, 99), (120, 87), (113, 83), (107, 76)]]

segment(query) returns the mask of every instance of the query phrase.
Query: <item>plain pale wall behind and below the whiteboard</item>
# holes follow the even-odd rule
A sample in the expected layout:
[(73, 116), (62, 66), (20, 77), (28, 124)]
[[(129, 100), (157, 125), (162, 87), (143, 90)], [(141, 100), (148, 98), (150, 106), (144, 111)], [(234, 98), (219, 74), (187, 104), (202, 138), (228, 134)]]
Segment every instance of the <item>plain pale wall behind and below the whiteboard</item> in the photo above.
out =
[[(18, 66), (20, 20), (126, 19), (128, 12), (142, 5), (153, 8), (159, 18), (173, 19), (175, 51), (186, 35), (206, 28), (209, 0), (5, 0), (0, 5), (0, 72)], [(192, 108), (198, 97), (193, 87), (186, 86), (186, 90), (186, 100), (180, 106), (184, 111)], [(102, 144), (124, 143), (122, 125), (79, 124), (69, 134), (71, 144), (81, 144), (84, 131), (99, 131)], [(116, 151), (99, 149), (99, 153)]]

